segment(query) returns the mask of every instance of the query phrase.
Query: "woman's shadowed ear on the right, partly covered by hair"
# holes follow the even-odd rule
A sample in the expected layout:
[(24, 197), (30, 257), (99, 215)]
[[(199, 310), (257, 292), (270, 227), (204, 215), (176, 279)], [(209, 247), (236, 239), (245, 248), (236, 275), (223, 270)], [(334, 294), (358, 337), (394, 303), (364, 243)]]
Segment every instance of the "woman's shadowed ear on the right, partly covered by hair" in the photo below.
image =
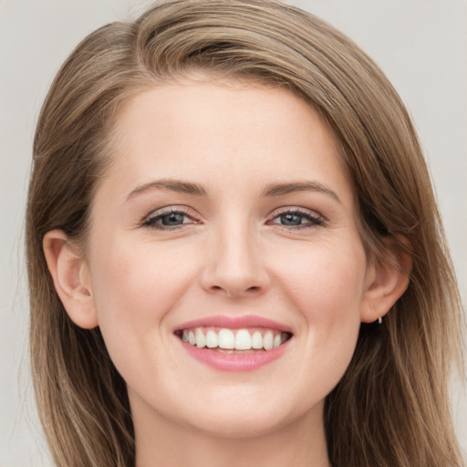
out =
[(412, 258), (405, 238), (385, 241), (388, 252), (387, 260), (373, 260), (368, 265), (367, 284), (360, 309), (360, 319), (372, 323), (385, 316), (410, 282)]

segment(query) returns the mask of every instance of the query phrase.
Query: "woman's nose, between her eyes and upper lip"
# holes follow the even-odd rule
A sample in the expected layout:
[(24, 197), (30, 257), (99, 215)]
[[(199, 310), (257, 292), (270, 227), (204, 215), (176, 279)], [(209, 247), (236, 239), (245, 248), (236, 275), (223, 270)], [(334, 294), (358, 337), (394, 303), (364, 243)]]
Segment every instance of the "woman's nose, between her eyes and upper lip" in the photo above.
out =
[(202, 287), (231, 299), (260, 296), (270, 286), (265, 257), (247, 226), (213, 233), (202, 271)]

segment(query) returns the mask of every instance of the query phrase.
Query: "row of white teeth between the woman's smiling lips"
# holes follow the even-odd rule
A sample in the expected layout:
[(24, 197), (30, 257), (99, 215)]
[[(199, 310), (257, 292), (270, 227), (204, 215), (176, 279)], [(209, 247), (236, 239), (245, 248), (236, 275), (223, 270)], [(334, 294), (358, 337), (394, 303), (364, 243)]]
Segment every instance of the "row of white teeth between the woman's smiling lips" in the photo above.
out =
[(289, 332), (265, 327), (192, 327), (180, 329), (175, 335), (193, 347), (228, 354), (267, 352), (282, 346), (292, 337)]

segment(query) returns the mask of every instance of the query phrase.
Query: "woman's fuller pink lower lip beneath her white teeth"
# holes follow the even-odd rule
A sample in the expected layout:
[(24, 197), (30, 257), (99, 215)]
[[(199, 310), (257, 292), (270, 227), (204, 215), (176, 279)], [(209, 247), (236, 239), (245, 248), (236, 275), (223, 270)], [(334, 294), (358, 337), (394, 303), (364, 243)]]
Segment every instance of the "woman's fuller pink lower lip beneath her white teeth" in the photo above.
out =
[(261, 368), (281, 357), (289, 340), (277, 348), (258, 351), (250, 354), (224, 354), (209, 348), (197, 348), (180, 340), (183, 348), (198, 361), (208, 367), (223, 371), (252, 371)]

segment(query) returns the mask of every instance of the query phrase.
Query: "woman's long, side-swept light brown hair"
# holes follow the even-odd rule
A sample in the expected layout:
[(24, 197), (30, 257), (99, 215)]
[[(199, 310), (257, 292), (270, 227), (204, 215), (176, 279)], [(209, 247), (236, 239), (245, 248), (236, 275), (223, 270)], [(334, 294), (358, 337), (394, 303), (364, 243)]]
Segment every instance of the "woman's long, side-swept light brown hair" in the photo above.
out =
[(410, 285), (383, 325), (361, 325), (354, 358), (327, 397), (329, 458), (346, 467), (461, 466), (447, 383), (461, 306), (420, 144), (400, 97), (348, 37), (269, 0), (169, 0), (89, 35), (57, 74), (34, 141), (26, 213), (36, 400), (60, 467), (134, 465), (124, 381), (99, 328), (75, 326), (42, 249), (50, 230), (86, 242), (106, 150), (124, 103), (203, 70), (283, 86), (339, 140), (369, 254), (410, 245)]

